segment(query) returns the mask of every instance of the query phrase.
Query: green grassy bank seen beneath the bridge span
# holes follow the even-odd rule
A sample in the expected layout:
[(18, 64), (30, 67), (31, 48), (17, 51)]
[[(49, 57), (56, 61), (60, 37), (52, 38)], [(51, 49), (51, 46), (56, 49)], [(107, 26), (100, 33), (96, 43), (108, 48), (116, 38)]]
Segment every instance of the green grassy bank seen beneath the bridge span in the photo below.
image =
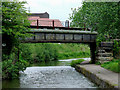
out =
[(22, 47), (23, 46), (23, 57), (26, 57), (25, 55), (29, 55), (26, 59), (34, 60), (34, 62), (37, 62), (38, 60), (44, 61), (45, 59), (58, 60), (90, 57), (89, 46), (85, 44), (37, 43), (22, 44)]

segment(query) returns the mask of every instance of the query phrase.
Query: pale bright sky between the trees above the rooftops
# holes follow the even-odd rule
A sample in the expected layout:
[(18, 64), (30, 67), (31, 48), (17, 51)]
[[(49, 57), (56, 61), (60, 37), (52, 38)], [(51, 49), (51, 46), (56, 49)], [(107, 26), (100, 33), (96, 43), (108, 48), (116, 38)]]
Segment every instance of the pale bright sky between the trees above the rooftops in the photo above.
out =
[(48, 12), (50, 19), (61, 21), (69, 20), (72, 14), (71, 8), (82, 6), (82, 0), (19, 0), (27, 1), (26, 8), (30, 8), (30, 13)]

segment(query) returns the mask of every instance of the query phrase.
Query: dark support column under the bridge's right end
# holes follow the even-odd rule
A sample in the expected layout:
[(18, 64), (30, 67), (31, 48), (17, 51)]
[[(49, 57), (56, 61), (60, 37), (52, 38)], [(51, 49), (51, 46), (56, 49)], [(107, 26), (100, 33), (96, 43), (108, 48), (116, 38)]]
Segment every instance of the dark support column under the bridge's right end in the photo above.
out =
[(96, 51), (96, 42), (90, 43), (90, 54), (91, 54), (91, 63), (92, 64), (95, 64), (95, 61), (96, 61), (95, 51)]

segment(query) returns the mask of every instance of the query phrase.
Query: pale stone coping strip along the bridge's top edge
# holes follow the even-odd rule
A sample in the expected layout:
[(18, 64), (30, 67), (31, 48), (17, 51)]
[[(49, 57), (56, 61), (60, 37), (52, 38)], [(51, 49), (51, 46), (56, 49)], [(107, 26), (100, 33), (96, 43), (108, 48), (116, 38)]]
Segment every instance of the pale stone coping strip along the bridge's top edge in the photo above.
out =
[(76, 33), (76, 34), (94, 34), (94, 35), (97, 35), (98, 33), (93, 31), (79, 31), (79, 30), (53, 30), (53, 29), (34, 29), (34, 30), (31, 30), (29, 32), (41, 32), (41, 33)]

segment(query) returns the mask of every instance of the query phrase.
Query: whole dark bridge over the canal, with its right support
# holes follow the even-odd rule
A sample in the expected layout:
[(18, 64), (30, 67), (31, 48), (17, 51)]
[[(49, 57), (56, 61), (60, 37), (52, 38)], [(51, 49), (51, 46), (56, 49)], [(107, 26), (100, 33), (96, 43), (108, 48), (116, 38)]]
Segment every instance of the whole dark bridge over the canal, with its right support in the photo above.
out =
[[(53, 26), (31, 26), (31, 37), (21, 40), (22, 43), (85, 43), (90, 45), (91, 61), (95, 63), (97, 32), (91, 32), (88, 28), (70, 28)], [(85, 31), (87, 30), (87, 31)]]

